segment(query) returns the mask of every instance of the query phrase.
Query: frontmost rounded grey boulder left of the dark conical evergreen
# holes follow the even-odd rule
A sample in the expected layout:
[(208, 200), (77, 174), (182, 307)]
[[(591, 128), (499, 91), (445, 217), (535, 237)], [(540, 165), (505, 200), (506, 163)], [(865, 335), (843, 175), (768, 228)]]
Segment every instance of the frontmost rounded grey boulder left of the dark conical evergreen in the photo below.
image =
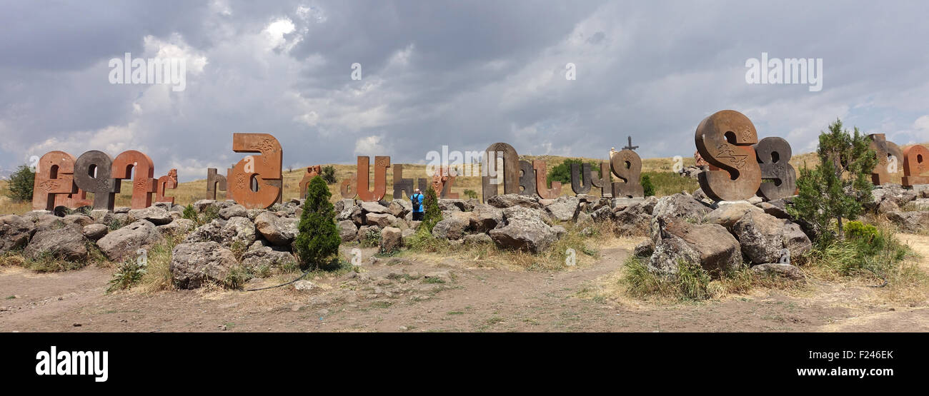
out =
[(238, 265), (232, 251), (216, 242), (182, 243), (171, 252), (168, 267), (180, 288), (196, 288), (207, 281), (223, 283)]

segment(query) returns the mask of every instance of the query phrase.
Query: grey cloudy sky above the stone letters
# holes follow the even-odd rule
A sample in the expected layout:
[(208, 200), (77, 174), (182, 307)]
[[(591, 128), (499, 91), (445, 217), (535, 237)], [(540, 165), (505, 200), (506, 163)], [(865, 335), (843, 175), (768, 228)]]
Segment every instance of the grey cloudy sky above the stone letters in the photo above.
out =
[[(274, 134), (284, 167), (430, 150), (691, 156), (720, 109), (795, 153), (841, 118), (929, 141), (927, 2), (4, 2), (0, 168), (49, 150), (146, 152), (204, 178)], [(110, 83), (111, 58), (185, 59), (186, 86)], [(822, 89), (746, 60), (822, 58)], [(352, 64), (361, 79), (352, 80)], [(566, 79), (566, 65), (576, 79)]]

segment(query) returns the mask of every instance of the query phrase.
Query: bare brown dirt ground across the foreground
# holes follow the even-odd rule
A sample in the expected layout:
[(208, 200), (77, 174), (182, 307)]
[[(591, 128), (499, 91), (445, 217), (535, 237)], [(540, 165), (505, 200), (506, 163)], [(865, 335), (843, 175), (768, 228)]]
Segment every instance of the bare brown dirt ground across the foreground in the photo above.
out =
[[(904, 237), (929, 247), (925, 236)], [(677, 304), (587, 297), (615, 287), (629, 254), (627, 246), (603, 249), (593, 264), (556, 273), (461, 258), (386, 259), (364, 264), (361, 274), (313, 279), (310, 291), (150, 295), (105, 294), (112, 270), (39, 275), (5, 267), (0, 331), (929, 331), (926, 301), (885, 302), (864, 285)]]

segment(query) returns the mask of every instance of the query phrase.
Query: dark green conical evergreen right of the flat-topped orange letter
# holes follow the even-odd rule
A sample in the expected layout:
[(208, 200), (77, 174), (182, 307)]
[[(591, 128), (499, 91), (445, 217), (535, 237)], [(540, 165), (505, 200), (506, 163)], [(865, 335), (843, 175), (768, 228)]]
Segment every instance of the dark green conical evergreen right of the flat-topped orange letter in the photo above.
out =
[(335, 208), (329, 202), (332, 193), (329, 187), (316, 176), (307, 187), (307, 201), (300, 215), (299, 233), (294, 240), (294, 249), (300, 257), (301, 268), (310, 265), (320, 268), (327, 259), (338, 253), (342, 237), (335, 227)]

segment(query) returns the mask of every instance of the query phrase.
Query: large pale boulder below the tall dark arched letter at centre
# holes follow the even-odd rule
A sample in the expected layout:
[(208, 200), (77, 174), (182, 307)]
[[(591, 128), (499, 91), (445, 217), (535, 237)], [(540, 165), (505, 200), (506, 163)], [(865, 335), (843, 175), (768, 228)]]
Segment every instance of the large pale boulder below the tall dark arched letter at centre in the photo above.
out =
[(507, 208), (504, 210), (505, 225), (492, 229), (491, 239), (498, 247), (504, 249), (539, 253), (558, 237), (557, 230), (543, 221), (545, 216), (547, 215), (543, 211), (523, 206)]

